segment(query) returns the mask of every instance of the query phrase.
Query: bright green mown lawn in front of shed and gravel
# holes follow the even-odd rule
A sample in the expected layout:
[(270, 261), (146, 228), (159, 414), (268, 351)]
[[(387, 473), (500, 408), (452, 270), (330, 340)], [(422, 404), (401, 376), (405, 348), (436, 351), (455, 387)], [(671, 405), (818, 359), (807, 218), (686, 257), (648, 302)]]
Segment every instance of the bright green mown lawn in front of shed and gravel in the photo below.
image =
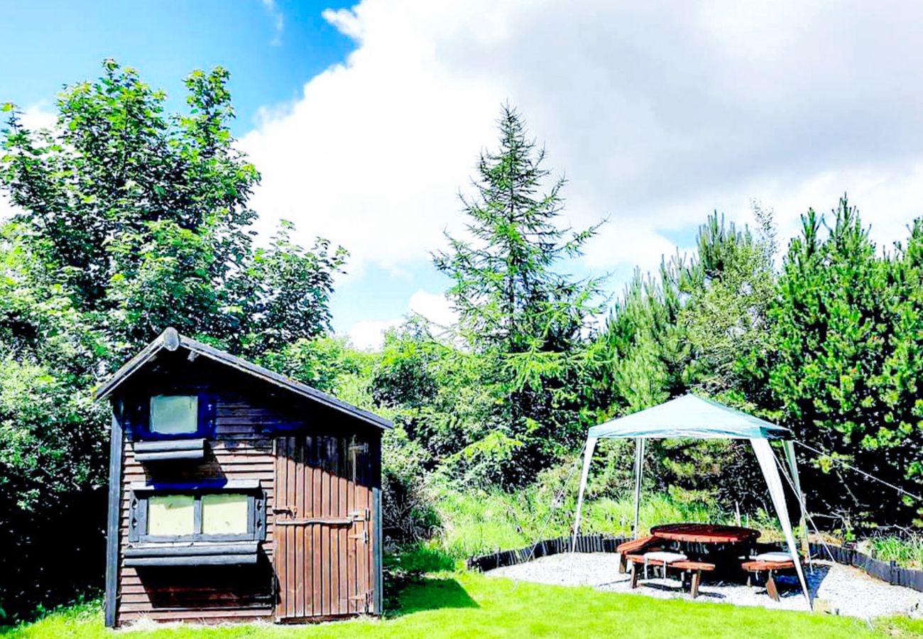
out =
[[(516, 584), (478, 573), (440, 573), (409, 585), (400, 610), (383, 621), (314, 626), (168, 626), (122, 636), (156, 637), (911, 637), (923, 621), (880, 621), (874, 628), (849, 618), (735, 608), (591, 588)], [(98, 605), (74, 607), (9, 629), (13, 637), (112, 637)]]

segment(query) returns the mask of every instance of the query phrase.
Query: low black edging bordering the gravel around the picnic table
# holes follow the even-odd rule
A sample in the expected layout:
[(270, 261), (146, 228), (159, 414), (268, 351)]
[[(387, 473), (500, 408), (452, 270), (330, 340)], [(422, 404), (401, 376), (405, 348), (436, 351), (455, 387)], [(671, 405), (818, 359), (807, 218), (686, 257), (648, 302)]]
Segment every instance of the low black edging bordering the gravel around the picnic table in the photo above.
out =
[[(629, 537), (607, 537), (605, 535), (579, 535), (577, 536), (578, 552), (615, 552), (616, 547), (623, 541), (628, 541)], [(777, 550), (782, 549), (782, 544), (760, 544), (759, 549)], [(827, 549), (830, 550), (828, 555)], [(471, 557), (465, 562), (469, 570), (488, 571), (494, 568), (502, 568), (517, 563), (523, 563), (538, 557), (547, 557), (557, 555), (561, 552), (570, 551), (570, 537), (557, 537), (555, 539), (545, 539), (532, 546), (516, 550), (497, 550), (489, 555), (480, 557)], [(833, 556), (833, 561), (843, 563), (847, 566), (855, 566), (864, 573), (881, 579), (893, 585), (903, 585), (923, 592), (923, 571), (912, 568), (901, 568), (893, 561), (879, 561), (872, 559), (868, 555), (857, 551), (856, 549), (844, 548), (842, 546), (827, 546), (821, 544), (810, 544), (811, 556), (817, 559), (829, 559)]]

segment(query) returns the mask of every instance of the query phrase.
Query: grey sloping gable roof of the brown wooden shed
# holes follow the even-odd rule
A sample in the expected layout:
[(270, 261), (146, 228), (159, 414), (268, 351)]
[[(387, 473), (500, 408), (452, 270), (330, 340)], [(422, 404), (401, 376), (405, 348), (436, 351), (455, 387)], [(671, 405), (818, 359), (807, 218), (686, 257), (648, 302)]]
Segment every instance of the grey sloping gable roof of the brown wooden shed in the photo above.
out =
[(333, 410), (353, 416), (373, 426), (377, 426), (378, 428), (392, 428), (393, 426), (390, 420), (384, 417), (375, 415), (353, 404), (347, 404), (326, 392), (320, 392), (299, 381), (290, 380), (284, 375), (280, 375), (269, 368), (263, 368), (252, 362), (246, 361), (246, 359), (241, 359), (240, 357), (233, 356), (214, 346), (210, 346), (209, 344), (197, 342), (192, 338), (186, 337), (186, 335), (179, 334), (174, 328), (166, 329), (157, 336), (157, 339), (145, 346), (138, 355), (129, 359), (122, 368), (116, 370), (115, 374), (96, 390), (97, 401), (112, 394), (115, 389), (137, 373), (138, 370), (144, 368), (144, 366), (154, 359), (161, 351), (176, 351), (180, 348), (186, 349), (190, 353), (195, 353), (199, 356), (208, 357), (210, 360), (218, 362), (219, 364), (235, 368), (247, 375), (266, 381), (281, 388), (283, 391), (306, 397), (318, 404), (323, 404)]

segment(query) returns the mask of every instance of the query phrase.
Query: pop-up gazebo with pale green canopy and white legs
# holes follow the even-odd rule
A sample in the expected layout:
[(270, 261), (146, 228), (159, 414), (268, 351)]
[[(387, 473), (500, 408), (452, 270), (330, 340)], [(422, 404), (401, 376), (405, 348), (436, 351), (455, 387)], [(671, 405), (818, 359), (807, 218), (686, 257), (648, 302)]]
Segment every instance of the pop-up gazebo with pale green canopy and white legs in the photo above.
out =
[[(586, 488), (587, 477), (590, 473), (590, 462), (593, 460), (593, 450), (596, 441), (601, 439), (630, 438), (635, 440), (634, 461), (634, 537), (638, 537), (638, 516), (641, 505), (641, 475), (644, 461), (644, 442), (653, 439), (728, 439), (749, 440), (760, 464), (762, 475), (769, 487), (769, 494), (773, 500), (773, 507), (779, 518), (785, 542), (793, 558), (797, 558), (797, 544), (792, 533), (792, 524), (788, 518), (788, 508), (785, 503), (785, 489), (782, 485), (782, 476), (779, 464), (773, 453), (769, 440), (782, 440), (782, 449), (785, 452), (786, 465), (790, 473), (792, 488), (794, 488), (799, 508), (803, 508), (804, 498), (798, 481), (797, 464), (795, 462), (795, 446), (791, 440), (791, 431), (788, 428), (776, 426), (770, 422), (738, 411), (724, 404), (704, 399), (696, 395), (687, 394), (682, 397), (633, 413), (629, 416), (619, 417), (611, 421), (590, 428), (583, 451), (583, 471), (581, 473), (580, 491), (577, 497), (577, 514), (574, 520), (573, 542), (576, 544), (577, 534), (580, 530), (581, 510), (583, 507), (583, 491)], [(802, 512), (802, 516), (803, 516)], [(799, 561), (795, 561), (798, 582), (804, 592), (805, 599), (810, 607), (808, 585), (805, 582), (804, 572)]]

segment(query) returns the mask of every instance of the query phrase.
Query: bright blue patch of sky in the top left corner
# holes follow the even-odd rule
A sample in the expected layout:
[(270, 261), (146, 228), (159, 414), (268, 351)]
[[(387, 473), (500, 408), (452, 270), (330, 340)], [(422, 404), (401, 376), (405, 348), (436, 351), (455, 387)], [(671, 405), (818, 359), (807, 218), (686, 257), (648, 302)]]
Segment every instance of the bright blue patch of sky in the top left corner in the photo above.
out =
[(0, 65), (0, 90), (4, 101), (23, 107), (52, 102), (63, 85), (99, 76), (100, 62), (114, 57), (167, 90), (178, 109), (186, 74), (221, 65), (232, 72), (240, 136), (253, 128), (259, 107), (294, 100), (309, 78), (354, 48), (321, 18), (331, 6), (339, 8), (285, 0), (6, 3), (0, 42), (18, 61)]

